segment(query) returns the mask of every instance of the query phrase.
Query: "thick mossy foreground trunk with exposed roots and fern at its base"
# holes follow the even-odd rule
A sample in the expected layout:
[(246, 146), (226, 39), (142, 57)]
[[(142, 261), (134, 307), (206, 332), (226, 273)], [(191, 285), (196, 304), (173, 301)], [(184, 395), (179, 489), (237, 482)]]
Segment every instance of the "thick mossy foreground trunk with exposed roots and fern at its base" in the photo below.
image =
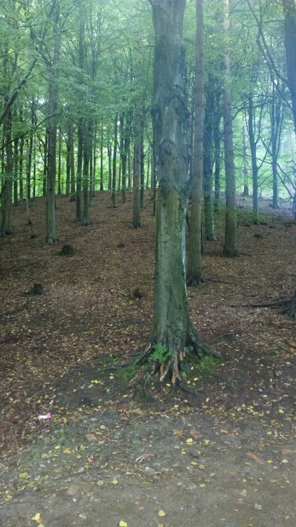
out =
[[(180, 379), (187, 346), (203, 346), (189, 318), (185, 280), (185, 216), (189, 194), (189, 112), (184, 100), (182, 26), (186, 0), (151, 0), (155, 33), (152, 118), (158, 162), (154, 320), (146, 355), (160, 379)], [(161, 346), (161, 347), (159, 347)]]

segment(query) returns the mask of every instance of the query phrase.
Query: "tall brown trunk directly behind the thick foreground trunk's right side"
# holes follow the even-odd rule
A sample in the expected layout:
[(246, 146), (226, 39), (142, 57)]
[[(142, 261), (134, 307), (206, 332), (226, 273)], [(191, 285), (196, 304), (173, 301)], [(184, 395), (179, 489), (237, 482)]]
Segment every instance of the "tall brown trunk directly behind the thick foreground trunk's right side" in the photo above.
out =
[(187, 285), (203, 282), (201, 261), (201, 214), (203, 187), (203, 0), (196, 0), (196, 77), (194, 155), (191, 174), (191, 214), (189, 218), (189, 252)]

